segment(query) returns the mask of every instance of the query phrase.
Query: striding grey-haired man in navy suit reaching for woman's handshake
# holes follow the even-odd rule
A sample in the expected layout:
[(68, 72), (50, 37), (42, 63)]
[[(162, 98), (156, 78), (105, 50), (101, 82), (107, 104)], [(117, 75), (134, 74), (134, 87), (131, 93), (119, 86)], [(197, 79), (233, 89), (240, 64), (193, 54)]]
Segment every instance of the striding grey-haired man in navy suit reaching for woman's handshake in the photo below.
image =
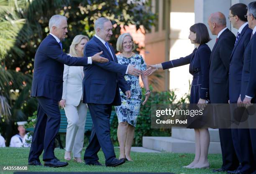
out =
[(118, 64), (114, 49), (109, 45), (112, 33), (112, 23), (107, 18), (95, 21), (95, 36), (87, 43), (84, 54), (94, 55), (103, 51), (108, 63), (94, 63), (84, 68), (83, 102), (88, 103), (93, 126), (90, 143), (84, 153), (85, 164), (101, 165), (97, 152), (102, 148), (106, 166), (118, 166), (125, 162), (115, 158), (115, 151), (110, 139), (110, 114), (112, 106), (121, 104), (119, 88), (131, 97), (130, 86), (124, 79), (125, 74), (138, 76), (140, 71), (133, 66)]

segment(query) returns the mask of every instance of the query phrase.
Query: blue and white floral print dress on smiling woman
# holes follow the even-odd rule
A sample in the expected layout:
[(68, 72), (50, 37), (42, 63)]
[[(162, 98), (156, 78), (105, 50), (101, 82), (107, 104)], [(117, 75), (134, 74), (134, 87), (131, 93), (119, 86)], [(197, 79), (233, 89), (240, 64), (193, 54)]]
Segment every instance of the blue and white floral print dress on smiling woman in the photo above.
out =
[[(128, 66), (136, 65), (135, 68), (145, 71), (146, 63), (141, 55), (135, 54), (131, 58), (126, 58), (121, 55), (117, 55), (118, 63)], [(120, 90), (120, 96), (122, 104), (121, 106), (115, 106), (115, 111), (118, 116), (118, 123), (127, 122), (128, 124), (136, 127), (137, 116), (141, 108), (141, 86), (139, 84), (139, 77), (125, 74), (124, 76), (128, 85), (131, 86), (131, 98), (127, 99), (125, 93)]]

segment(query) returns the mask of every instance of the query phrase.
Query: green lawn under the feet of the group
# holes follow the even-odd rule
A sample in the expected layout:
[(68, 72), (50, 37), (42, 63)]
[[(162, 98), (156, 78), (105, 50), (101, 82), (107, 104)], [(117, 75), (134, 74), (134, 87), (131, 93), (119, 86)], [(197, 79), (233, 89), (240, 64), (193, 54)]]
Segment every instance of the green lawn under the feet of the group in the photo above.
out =
[[(28, 166), (28, 148), (0, 148), (0, 174), (12, 174), (13, 171), (3, 171), (4, 166)], [(82, 151), (84, 153), (84, 150)], [(115, 149), (116, 155), (119, 149)], [(55, 149), (55, 155), (64, 161), (64, 150)], [(28, 166), (27, 171), (119, 171), (119, 172), (173, 172), (175, 174), (212, 174), (211, 169), (220, 168), (222, 158), (220, 154), (209, 154), (210, 169), (184, 169), (182, 166), (189, 164), (194, 154), (173, 153), (137, 153), (131, 154), (133, 162), (126, 162), (118, 167), (87, 166), (70, 161), (69, 165), (61, 168), (44, 166)], [(102, 151), (99, 153), (100, 162), (105, 164)], [(40, 158), (43, 163), (42, 159)], [(224, 174), (224, 173), (223, 173)]]

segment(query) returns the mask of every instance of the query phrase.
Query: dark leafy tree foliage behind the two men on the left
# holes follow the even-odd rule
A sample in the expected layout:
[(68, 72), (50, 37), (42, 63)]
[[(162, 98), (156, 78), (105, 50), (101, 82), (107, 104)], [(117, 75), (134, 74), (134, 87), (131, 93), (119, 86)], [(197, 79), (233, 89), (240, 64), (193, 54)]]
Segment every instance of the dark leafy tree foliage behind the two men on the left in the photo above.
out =
[[(0, 90), (6, 100), (1, 98), (0, 100), (5, 101), (5, 106), (2, 108), (8, 108), (8, 104), (11, 107), (11, 116), (5, 116), (10, 119), (10, 126), (6, 126), (5, 132), (10, 134), (14, 133), (10, 130), (14, 121), (27, 118), (36, 110), (35, 99), (29, 97), (34, 56), (41, 41), (49, 33), (48, 23), (52, 15), (61, 14), (68, 18), (69, 37), (63, 42), (66, 52), (75, 35), (84, 34), (89, 37), (94, 35), (93, 23), (99, 17), (107, 17), (114, 24), (113, 37), (110, 40), (114, 48), (120, 35), (121, 24), (136, 25), (137, 30), (143, 25), (146, 30), (150, 30), (155, 19), (147, 1), (142, 0), (0, 0), (0, 3), (3, 2), (6, 9), (9, 9), (5, 10), (5, 13), (0, 13), (1, 17), (7, 15), (10, 18), (9, 16), (12, 15), (8, 12), (13, 10), (15, 15), (11, 19), (17, 23), (16, 29), (13, 29), (13, 25), (5, 27), (5, 32), (10, 32), (12, 36), (12, 44), (9, 44), (8, 49), (0, 47), (0, 53), (2, 50), (7, 50), (1, 57), (2, 70), (6, 75), (2, 76), (2, 73), (0, 75)], [(13, 21), (9, 23), (13, 24)], [(0, 29), (1, 27), (2, 25)], [(2, 39), (1, 34), (0, 39)], [(10, 91), (18, 92), (10, 93)]]

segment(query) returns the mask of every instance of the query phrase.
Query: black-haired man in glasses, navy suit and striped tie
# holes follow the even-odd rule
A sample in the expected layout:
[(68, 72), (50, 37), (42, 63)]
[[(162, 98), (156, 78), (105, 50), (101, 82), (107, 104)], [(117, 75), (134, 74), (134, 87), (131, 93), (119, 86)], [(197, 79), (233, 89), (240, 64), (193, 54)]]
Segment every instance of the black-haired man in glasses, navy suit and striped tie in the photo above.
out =
[[(247, 18), (244, 16), (247, 13), (247, 6), (243, 3), (238, 3), (230, 7), (229, 9), (229, 20), (233, 27), (238, 29), (236, 35), (236, 43), (230, 56), (230, 67), (229, 67), (229, 100), (231, 108), (231, 120), (233, 129), (231, 129), (232, 139), (236, 155), (240, 162), (238, 169), (232, 171), (236, 174), (251, 174), (253, 171), (252, 165), (252, 151), (251, 151), (251, 138), (249, 129), (238, 129), (239, 121), (236, 120), (233, 112), (236, 109), (238, 100), (241, 101), (241, 76), (243, 69), (243, 54), (250, 41), (252, 30), (248, 27)], [(238, 99), (239, 98), (239, 99)], [(246, 147), (246, 148), (245, 148)], [(231, 171), (228, 171), (231, 173)]]

